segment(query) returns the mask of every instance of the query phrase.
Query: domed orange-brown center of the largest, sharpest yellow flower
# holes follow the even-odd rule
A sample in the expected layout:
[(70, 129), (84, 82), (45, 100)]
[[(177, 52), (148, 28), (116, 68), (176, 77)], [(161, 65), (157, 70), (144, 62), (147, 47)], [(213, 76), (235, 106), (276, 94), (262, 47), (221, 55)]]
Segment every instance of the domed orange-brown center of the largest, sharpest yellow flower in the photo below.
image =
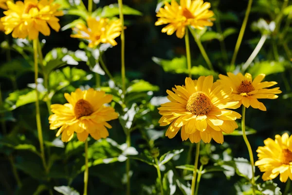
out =
[(194, 115), (205, 115), (212, 109), (212, 102), (203, 92), (193, 93), (187, 100), (186, 110)]

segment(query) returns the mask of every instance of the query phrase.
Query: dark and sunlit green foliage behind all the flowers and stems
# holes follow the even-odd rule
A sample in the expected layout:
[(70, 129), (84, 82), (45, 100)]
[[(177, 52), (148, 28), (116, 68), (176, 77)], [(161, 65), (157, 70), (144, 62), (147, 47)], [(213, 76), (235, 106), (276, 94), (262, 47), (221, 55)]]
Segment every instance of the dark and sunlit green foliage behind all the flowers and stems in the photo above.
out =
[[(52, 32), (50, 37), (40, 37), (43, 44), (45, 69), (40, 70), (40, 78), (49, 77), (48, 92), (39, 85), (41, 92), (41, 121), (45, 140), (49, 174), (46, 175), (39, 157), (39, 143), (35, 120), (35, 88), (33, 76), (32, 43), (12, 39), (0, 34), (0, 194), (45, 195), (82, 194), (84, 171), (84, 144), (74, 137), (63, 143), (49, 130), (46, 98), (52, 103), (65, 103), (63, 94), (81, 87), (95, 86), (96, 73), (103, 74), (94, 67), (95, 59), (88, 58), (90, 51), (78, 39), (70, 38), (74, 20), (85, 17), (85, 11), (78, 2), (57, 0), (67, 15), (61, 17), (63, 30)], [(287, 1), (287, 0), (286, 0)], [(285, 2), (286, 2), (285, 1)], [(291, 134), (292, 123), (292, 63), (290, 20), (292, 4), (283, 7), (281, 0), (254, 0), (247, 29), (239, 49), (236, 64), (230, 65), (239, 29), (245, 14), (247, 0), (210, 0), (215, 12), (213, 27), (201, 32), (201, 41), (210, 57), (215, 71), (210, 71), (201, 56), (195, 41), (191, 39), (193, 78), (201, 75), (238, 72), (249, 58), (261, 36), (266, 35), (262, 49), (247, 72), (256, 76), (264, 73), (267, 80), (278, 82), (283, 91), (275, 100), (263, 100), (267, 112), (247, 109), (246, 124), (249, 127), (255, 159), (256, 148), (263, 145), (267, 137)], [(86, 2), (84, 2), (86, 4)], [(101, 17), (118, 16), (116, 1), (96, 1), (96, 15)], [(110, 5), (113, 4), (114, 5)], [(75, 5), (73, 5), (75, 4)], [(166, 89), (183, 84), (186, 77), (186, 57), (184, 40), (175, 35), (161, 33), (161, 26), (154, 26), (157, 20), (155, 10), (162, 1), (124, 0), (129, 7), (124, 10), (126, 33), (126, 75), (128, 79), (125, 104), (120, 99), (120, 39), (113, 48), (100, 49), (115, 83), (107, 76), (101, 76), (102, 90), (114, 95), (113, 105), (120, 120), (111, 121), (113, 128), (110, 138), (89, 142), (90, 178), (89, 194), (125, 194), (125, 160), (131, 159), (131, 188), (133, 195), (158, 194), (157, 172), (153, 156), (159, 156), (159, 167), (163, 174), (165, 194), (187, 195), (190, 190), (190, 166), (195, 151), (187, 159), (190, 142), (182, 142), (180, 136), (173, 139), (164, 137), (165, 128), (159, 127), (157, 107), (165, 101)], [(110, 5), (110, 6), (109, 6)], [(132, 10), (131, 8), (135, 9)], [(139, 10), (139, 11), (137, 11)], [(261, 19), (261, 20), (260, 20)], [(274, 21), (274, 24), (273, 22)], [(274, 25), (274, 26), (273, 26)], [(7, 42), (8, 41), (8, 42)], [(9, 44), (8, 44), (9, 43)], [(53, 49), (54, 48), (54, 49)], [(52, 50), (53, 49), (53, 50)], [(106, 51), (105, 51), (106, 50)], [(82, 52), (86, 51), (86, 53)], [(10, 59), (9, 57), (12, 57)], [(86, 56), (87, 54), (87, 56)], [(94, 72), (95, 71), (95, 72)], [(42, 80), (40, 80), (41, 82)], [(238, 111), (240, 112), (240, 111)], [(120, 123), (119, 123), (120, 122)], [(122, 125), (121, 125), (122, 124)], [(131, 131), (131, 148), (125, 145), (124, 131)], [(199, 194), (202, 195), (247, 195), (250, 193), (250, 165), (248, 151), (241, 137), (240, 127), (233, 135), (224, 137), (219, 145), (214, 141), (202, 144), (200, 155), (204, 156)], [(159, 149), (159, 150), (157, 150)], [(158, 154), (159, 151), (159, 154)], [(170, 151), (170, 152), (169, 152)], [(165, 153), (168, 153), (164, 155)], [(188, 162), (187, 162), (188, 161)], [(17, 170), (19, 181), (13, 170)], [(183, 177), (183, 172), (185, 176)], [(256, 175), (261, 175), (256, 168)], [(263, 182), (257, 179), (262, 194), (279, 195), (278, 179)], [(278, 187), (277, 187), (278, 185)], [(60, 187), (62, 186), (62, 187)], [(66, 187), (70, 186), (70, 187)], [(72, 188), (72, 189), (71, 189)], [(53, 190), (54, 189), (54, 190)], [(75, 190), (73, 190), (75, 189)], [(281, 190), (283, 193), (283, 190)]]

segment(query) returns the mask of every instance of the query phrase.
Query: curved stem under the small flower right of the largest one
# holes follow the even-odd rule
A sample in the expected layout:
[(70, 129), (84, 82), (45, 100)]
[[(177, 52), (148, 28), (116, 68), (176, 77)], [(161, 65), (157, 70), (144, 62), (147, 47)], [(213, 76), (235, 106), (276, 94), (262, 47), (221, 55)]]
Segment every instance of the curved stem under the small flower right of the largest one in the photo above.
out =
[(247, 146), (248, 149), (248, 153), (250, 156), (250, 160), (251, 160), (251, 165), (252, 165), (252, 188), (253, 188), (253, 195), (256, 195), (255, 193), (255, 171), (254, 171), (254, 167), (255, 167), (255, 162), (254, 162), (254, 155), (253, 155), (253, 150), (251, 147), (251, 144), (249, 143), (247, 137), (246, 137), (246, 133), (245, 133), (245, 106), (242, 105), (242, 118), (241, 118), (241, 129), (242, 129), (242, 136), (243, 139), (245, 141), (245, 144)]

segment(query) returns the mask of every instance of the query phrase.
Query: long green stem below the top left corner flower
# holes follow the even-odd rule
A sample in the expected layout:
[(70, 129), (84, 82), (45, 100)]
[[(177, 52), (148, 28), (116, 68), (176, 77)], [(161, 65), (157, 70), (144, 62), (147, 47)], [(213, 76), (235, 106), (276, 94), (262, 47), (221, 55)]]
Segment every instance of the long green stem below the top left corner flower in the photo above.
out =
[(37, 60), (37, 45), (38, 45), (38, 39), (33, 40), (33, 47), (34, 47), (34, 60), (35, 60), (35, 84), (36, 84), (36, 119), (37, 119), (37, 135), (39, 140), (39, 147), (41, 152), (41, 159), (43, 166), (47, 170), (47, 163), (45, 158), (45, 150), (44, 150), (44, 143), (43, 143), (43, 137), (42, 137), (42, 129), (41, 129), (41, 121), (40, 121), (40, 111), (39, 111), (39, 100), (38, 100), (38, 91), (37, 91), (37, 78), (38, 78), (38, 60)]

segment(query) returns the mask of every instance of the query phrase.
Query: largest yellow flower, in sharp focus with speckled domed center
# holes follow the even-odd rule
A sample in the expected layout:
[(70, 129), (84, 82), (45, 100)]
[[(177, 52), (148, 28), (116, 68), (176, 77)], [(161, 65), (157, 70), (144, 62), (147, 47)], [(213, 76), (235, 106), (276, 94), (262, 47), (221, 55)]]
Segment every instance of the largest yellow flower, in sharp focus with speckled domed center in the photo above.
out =
[(185, 86), (175, 86), (173, 92), (167, 90), (170, 102), (161, 105), (159, 114), (160, 126), (169, 125), (165, 136), (169, 138), (181, 130), (183, 140), (188, 138), (192, 143), (201, 139), (209, 143), (213, 138), (223, 143), (223, 134), (232, 133), (238, 126), (235, 120), (241, 116), (226, 108), (238, 101), (231, 102), (231, 87), (213, 83), (213, 76), (200, 77), (198, 80), (185, 78)]

